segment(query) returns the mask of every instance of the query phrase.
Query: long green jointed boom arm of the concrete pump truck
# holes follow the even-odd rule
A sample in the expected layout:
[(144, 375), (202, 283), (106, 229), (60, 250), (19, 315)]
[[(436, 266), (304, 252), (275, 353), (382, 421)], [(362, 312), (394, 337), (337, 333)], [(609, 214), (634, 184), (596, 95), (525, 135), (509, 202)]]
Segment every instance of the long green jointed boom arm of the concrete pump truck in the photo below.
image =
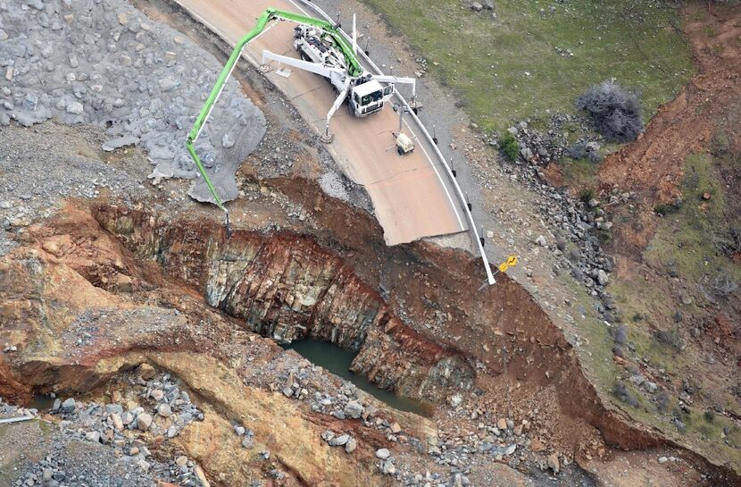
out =
[(196, 117), (196, 122), (193, 124), (193, 128), (190, 129), (190, 132), (188, 132), (187, 141), (186, 141), (187, 152), (190, 153), (191, 157), (193, 157), (193, 161), (196, 163), (198, 172), (200, 172), (201, 175), (204, 177), (204, 181), (206, 181), (206, 185), (208, 186), (208, 189), (211, 191), (211, 194), (213, 195), (213, 199), (216, 202), (216, 206), (219, 206), (227, 214), (227, 231), (228, 232), (229, 232), (229, 211), (227, 210), (227, 208), (224, 206), (223, 202), (221, 201), (221, 197), (219, 197), (219, 193), (216, 191), (216, 188), (214, 188), (213, 183), (211, 182), (211, 179), (208, 177), (208, 174), (206, 174), (204, 164), (201, 163), (200, 157), (198, 157), (198, 155), (196, 154), (196, 149), (194, 147), (194, 144), (196, 142), (196, 139), (198, 139), (198, 136), (201, 135), (201, 130), (203, 130), (205, 122), (208, 120), (208, 117), (211, 115), (213, 106), (216, 105), (216, 102), (219, 99), (219, 96), (221, 95), (221, 91), (223, 91), (224, 86), (227, 83), (227, 80), (229, 80), (231, 71), (234, 71), (234, 67), (237, 64), (239, 57), (242, 55), (242, 50), (245, 48), (247, 43), (249, 43), (251, 40), (253, 40), (254, 38), (256, 38), (262, 33), (262, 31), (267, 27), (268, 22), (272, 20), (280, 20), (280, 19), (286, 20), (286, 21), (294, 21), (296, 23), (301, 23), (301, 24), (306, 24), (306, 25), (311, 25), (312, 27), (316, 27), (316, 28), (324, 30), (325, 32), (329, 34), (329, 36), (331, 36), (331, 38), (334, 39), (334, 41), (337, 43), (337, 47), (342, 52), (342, 54), (345, 56), (346, 63), (347, 63), (347, 73), (350, 76), (356, 77), (356, 76), (361, 76), (363, 72), (361, 64), (358, 62), (357, 57), (355, 57), (353, 47), (350, 46), (350, 44), (347, 42), (347, 39), (340, 33), (339, 29), (337, 29), (337, 26), (335, 26), (334, 24), (328, 21), (321, 21), (320, 19), (306, 17), (305, 15), (300, 15), (298, 13), (291, 13), (291, 12), (269, 8), (260, 15), (260, 17), (257, 19), (257, 24), (254, 26), (254, 28), (250, 30), (249, 32), (247, 32), (245, 37), (239, 39), (239, 42), (237, 42), (237, 46), (234, 47), (234, 50), (231, 52), (231, 55), (229, 55), (229, 60), (227, 61), (224, 68), (221, 70), (221, 73), (219, 74), (219, 78), (217, 78), (216, 84), (211, 90), (211, 93), (206, 98), (204, 107), (201, 108), (201, 112), (198, 113), (198, 116)]

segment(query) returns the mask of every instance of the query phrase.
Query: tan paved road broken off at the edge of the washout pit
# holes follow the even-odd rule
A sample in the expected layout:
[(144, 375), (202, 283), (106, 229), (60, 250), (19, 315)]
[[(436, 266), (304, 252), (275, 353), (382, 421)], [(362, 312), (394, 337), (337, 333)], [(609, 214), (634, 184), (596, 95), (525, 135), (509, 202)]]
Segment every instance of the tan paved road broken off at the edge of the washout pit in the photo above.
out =
[[(254, 27), (266, 8), (301, 12), (290, 0), (178, 3), (232, 46)], [(254, 64), (262, 63), (263, 49), (297, 57), (293, 48), (294, 26), (285, 21), (274, 24), (246, 47), (244, 56)], [(329, 83), (310, 72), (293, 70), (284, 78), (275, 71), (266, 76), (293, 102), (306, 122), (323, 133), (327, 112), (335, 100)], [(329, 152), (350, 179), (367, 189), (387, 245), (465, 231), (465, 217), (454, 191), (445, 181), (442, 168), (430, 158), (426, 145), (418, 144), (412, 154), (403, 157), (396, 154), (391, 132), (398, 129), (398, 124), (398, 115), (388, 106), (380, 113), (359, 119), (343, 105), (332, 118), (330, 129), (335, 139), (328, 146)], [(411, 129), (407, 126), (405, 130), (409, 133)]]

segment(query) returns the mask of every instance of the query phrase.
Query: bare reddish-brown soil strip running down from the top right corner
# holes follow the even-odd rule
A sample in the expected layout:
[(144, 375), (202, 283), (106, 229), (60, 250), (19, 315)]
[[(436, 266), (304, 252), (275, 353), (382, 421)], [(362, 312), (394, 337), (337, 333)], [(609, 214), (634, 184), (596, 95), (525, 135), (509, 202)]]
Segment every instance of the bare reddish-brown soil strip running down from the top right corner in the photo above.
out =
[(741, 149), (741, 129), (727, 123), (741, 100), (741, 5), (710, 9), (688, 4), (682, 16), (697, 74), (678, 97), (662, 105), (640, 139), (608, 156), (598, 172), (601, 190), (635, 191), (644, 203), (632, 223), (616, 228), (617, 241), (627, 245), (615, 248), (634, 256), (654, 235), (654, 206), (681, 196), (678, 187), (687, 155), (707, 152), (721, 125), (730, 146)]

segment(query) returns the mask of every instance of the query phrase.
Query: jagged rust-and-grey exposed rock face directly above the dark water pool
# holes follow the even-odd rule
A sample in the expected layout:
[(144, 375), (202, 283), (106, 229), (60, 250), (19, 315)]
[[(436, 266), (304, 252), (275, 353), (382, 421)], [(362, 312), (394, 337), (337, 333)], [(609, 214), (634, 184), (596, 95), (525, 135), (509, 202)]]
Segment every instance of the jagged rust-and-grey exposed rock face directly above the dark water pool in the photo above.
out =
[(139, 259), (203, 290), (206, 302), (280, 341), (312, 337), (358, 351), (353, 370), (408, 396), (468, 389), (474, 374), (461, 355), (428, 340), (393, 314), (379, 293), (313, 239), (165, 222), (116, 206), (97, 221)]

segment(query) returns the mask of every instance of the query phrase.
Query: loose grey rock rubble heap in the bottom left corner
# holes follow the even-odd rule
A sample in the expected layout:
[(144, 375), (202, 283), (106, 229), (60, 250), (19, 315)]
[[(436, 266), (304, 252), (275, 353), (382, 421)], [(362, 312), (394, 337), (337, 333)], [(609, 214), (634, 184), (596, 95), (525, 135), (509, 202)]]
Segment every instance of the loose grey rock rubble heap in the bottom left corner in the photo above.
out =
[[(122, 380), (127, 396), (114, 390), (110, 403), (54, 400), (49, 412), (60, 421), (49, 449), (40, 461), (26, 465), (12, 485), (149, 487), (162, 481), (203, 486), (203, 471), (193, 460), (154, 458), (147, 448), (204, 419), (187, 391), (170, 375), (157, 374), (146, 364)], [(21, 413), (36, 415), (35, 410), (3, 405), (0, 400), (0, 416)]]

